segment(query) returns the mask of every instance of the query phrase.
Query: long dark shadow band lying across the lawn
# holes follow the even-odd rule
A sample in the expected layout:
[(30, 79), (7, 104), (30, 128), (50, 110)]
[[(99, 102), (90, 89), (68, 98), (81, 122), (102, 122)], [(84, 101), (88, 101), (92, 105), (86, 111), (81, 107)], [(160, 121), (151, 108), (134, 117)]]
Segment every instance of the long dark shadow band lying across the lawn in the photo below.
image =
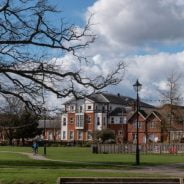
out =
[[(1, 168), (40, 168), (40, 169), (135, 169), (146, 166), (157, 166), (155, 163), (142, 163), (140, 166), (133, 162), (62, 162), (47, 160), (0, 160)], [(160, 164), (159, 164), (160, 165)]]

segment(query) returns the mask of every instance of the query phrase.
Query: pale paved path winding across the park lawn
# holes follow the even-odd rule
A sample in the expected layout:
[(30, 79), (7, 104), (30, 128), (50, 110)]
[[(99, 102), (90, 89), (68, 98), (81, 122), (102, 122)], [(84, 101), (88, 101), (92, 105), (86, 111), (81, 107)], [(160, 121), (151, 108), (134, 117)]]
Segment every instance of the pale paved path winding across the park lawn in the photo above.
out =
[[(76, 162), (76, 161), (66, 161), (66, 160), (53, 160), (48, 159), (42, 155), (34, 155), (33, 153), (27, 152), (10, 152), (10, 151), (0, 151), (6, 153), (18, 153), (21, 155), (28, 156), (34, 160), (48, 160), (53, 162), (70, 162), (70, 163), (87, 163), (87, 162)], [(100, 163), (89, 163), (92, 165), (99, 165)], [(101, 165), (101, 164), (100, 164)], [(103, 164), (105, 165), (105, 164)], [(109, 164), (107, 164), (109, 165)], [(115, 165), (113, 165), (115, 166)], [(120, 165), (117, 165), (120, 166)], [(122, 165), (121, 165), (122, 166)], [(155, 175), (165, 175), (165, 176), (173, 176), (173, 177), (184, 177), (184, 163), (177, 164), (168, 164), (168, 165), (159, 165), (159, 166), (141, 166), (141, 167), (132, 167), (131, 169), (77, 169), (81, 171), (98, 171), (98, 172), (120, 172), (120, 173), (145, 173), (145, 174), (155, 174)]]

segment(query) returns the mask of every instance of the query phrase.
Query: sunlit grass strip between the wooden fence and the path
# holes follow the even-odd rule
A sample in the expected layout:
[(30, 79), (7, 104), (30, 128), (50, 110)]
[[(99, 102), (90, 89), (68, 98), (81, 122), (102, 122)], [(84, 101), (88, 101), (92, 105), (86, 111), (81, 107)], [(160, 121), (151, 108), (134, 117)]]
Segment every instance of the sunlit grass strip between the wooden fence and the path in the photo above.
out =
[[(76, 162), (108, 163), (114, 165), (134, 165), (134, 154), (93, 154), (90, 148), (50, 147), (48, 158), (57, 160), (72, 160)], [(183, 155), (141, 155), (141, 165), (164, 165), (184, 163)]]

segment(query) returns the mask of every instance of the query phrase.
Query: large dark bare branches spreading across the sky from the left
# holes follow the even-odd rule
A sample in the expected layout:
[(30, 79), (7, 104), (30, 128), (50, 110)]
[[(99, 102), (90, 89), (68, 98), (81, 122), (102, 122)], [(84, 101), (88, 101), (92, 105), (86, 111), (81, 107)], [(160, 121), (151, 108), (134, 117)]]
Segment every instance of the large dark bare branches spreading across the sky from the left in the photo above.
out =
[(69, 53), (76, 65), (87, 63), (79, 50), (95, 39), (90, 20), (81, 29), (63, 19), (56, 23), (58, 17), (47, 0), (0, 1), (0, 94), (19, 98), (34, 111), (47, 92), (79, 98), (122, 80), (123, 63), (106, 76), (89, 77), (81, 69), (66, 69), (54, 61)]

